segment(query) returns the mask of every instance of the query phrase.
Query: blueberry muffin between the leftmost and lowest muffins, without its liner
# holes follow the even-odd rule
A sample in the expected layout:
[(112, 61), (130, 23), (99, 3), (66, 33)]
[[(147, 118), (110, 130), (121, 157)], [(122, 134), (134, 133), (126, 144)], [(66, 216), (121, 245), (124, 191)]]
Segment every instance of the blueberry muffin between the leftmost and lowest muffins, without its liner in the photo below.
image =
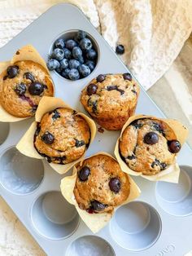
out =
[(46, 160), (68, 164), (82, 157), (89, 146), (89, 124), (69, 108), (56, 108), (37, 123), (34, 147)]

